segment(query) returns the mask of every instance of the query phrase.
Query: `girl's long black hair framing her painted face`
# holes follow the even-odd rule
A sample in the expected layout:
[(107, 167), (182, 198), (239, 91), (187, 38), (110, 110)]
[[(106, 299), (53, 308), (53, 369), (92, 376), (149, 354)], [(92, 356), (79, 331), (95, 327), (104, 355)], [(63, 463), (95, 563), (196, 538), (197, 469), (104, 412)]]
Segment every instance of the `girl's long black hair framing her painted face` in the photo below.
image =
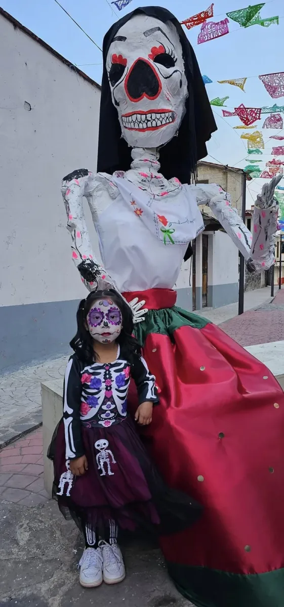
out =
[(98, 299), (108, 299), (111, 297), (113, 304), (120, 308), (122, 316), (122, 328), (121, 333), (117, 338), (117, 343), (120, 344), (124, 358), (130, 364), (133, 364), (135, 355), (140, 354), (140, 346), (136, 341), (133, 333), (133, 316), (129, 305), (126, 304), (120, 293), (117, 293), (114, 289), (107, 289), (104, 291), (92, 291), (86, 299), (82, 299), (79, 303), (77, 310), (77, 333), (75, 337), (70, 341), (70, 347), (75, 351), (78, 358), (92, 364), (96, 361), (96, 353), (93, 349), (93, 338), (86, 328), (87, 314), (92, 307), (93, 302)]

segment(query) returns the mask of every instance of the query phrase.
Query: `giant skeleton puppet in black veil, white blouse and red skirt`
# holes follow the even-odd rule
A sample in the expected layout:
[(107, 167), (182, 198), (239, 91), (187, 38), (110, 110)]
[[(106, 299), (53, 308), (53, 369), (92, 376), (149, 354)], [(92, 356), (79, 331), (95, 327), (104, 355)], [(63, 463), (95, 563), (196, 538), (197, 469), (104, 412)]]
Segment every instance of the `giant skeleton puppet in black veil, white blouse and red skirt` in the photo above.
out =
[[(89, 290), (115, 287), (130, 303), (156, 376), (149, 450), (167, 483), (194, 490), (205, 506), (188, 532), (161, 541), (169, 573), (198, 606), (279, 607), (282, 389), (218, 327), (175, 307), (173, 290), (204, 229), (198, 205), (209, 205), (251, 271), (274, 263), (279, 178), (257, 199), (253, 236), (220, 186), (188, 185), (216, 125), (192, 47), (166, 9), (120, 19), (103, 60), (98, 172), (74, 171), (62, 191), (81, 279)], [(104, 267), (93, 256), (84, 196)]]

